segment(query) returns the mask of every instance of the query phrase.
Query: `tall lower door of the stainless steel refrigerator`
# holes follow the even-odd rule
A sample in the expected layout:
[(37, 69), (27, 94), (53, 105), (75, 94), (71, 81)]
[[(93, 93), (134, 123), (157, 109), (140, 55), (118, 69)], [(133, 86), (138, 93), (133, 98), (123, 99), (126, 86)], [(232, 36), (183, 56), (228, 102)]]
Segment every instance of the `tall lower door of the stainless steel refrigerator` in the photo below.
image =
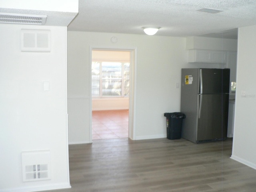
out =
[(200, 103), (196, 142), (227, 137), (229, 94), (198, 94)]

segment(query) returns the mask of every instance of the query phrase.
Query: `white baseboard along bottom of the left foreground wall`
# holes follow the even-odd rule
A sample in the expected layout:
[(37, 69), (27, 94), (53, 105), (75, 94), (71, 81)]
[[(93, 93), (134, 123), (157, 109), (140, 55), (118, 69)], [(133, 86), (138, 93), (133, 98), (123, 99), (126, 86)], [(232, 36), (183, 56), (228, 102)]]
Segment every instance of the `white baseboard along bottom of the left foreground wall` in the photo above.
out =
[(45, 184), (37, 186), (22, 186), (18, 188), (6, 188), (0, 189), (0, 192), (36, 192), (36, 191), (46, 191), (46, 190), (56, 190), (56, 189), (66, 189), (71, 188), (69, 183), (56, 183), (56, 184)]

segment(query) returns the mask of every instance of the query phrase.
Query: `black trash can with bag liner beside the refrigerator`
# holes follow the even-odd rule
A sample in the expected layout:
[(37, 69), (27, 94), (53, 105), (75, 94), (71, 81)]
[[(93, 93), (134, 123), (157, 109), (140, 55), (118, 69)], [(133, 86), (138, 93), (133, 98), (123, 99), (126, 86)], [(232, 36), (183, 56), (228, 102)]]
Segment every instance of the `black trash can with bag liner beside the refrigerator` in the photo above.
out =
[(168, 139), (180, 139), (182, 120), (186, 118), (186, 115), (181, 112), (164, 113), (166, 117), (166, 128)]

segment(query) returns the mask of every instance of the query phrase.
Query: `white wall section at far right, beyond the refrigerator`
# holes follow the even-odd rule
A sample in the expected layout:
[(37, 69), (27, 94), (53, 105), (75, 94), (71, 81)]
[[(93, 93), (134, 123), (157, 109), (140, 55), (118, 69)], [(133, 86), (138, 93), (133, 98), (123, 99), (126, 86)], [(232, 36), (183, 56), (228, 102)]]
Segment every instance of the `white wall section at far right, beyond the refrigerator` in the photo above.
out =
[[(238, 30), (237, 88), (232, 158), (256, 169), (256, 26)], [(241, 91), (246, 96), (241, 96)]]

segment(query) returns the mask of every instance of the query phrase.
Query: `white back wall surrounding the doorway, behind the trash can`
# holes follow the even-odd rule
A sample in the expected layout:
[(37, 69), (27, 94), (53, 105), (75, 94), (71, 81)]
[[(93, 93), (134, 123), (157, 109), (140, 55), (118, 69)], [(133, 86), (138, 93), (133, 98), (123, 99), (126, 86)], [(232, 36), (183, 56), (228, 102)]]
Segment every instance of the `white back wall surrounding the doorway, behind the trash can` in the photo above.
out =
[(188, 66), (186, 38), (68, 31), (70, 143), (89, 142), (90, 46), (137, 48), (135, 139), (166, 137), (164, 112), (180, 110), (176, 83), (181, 68)]

